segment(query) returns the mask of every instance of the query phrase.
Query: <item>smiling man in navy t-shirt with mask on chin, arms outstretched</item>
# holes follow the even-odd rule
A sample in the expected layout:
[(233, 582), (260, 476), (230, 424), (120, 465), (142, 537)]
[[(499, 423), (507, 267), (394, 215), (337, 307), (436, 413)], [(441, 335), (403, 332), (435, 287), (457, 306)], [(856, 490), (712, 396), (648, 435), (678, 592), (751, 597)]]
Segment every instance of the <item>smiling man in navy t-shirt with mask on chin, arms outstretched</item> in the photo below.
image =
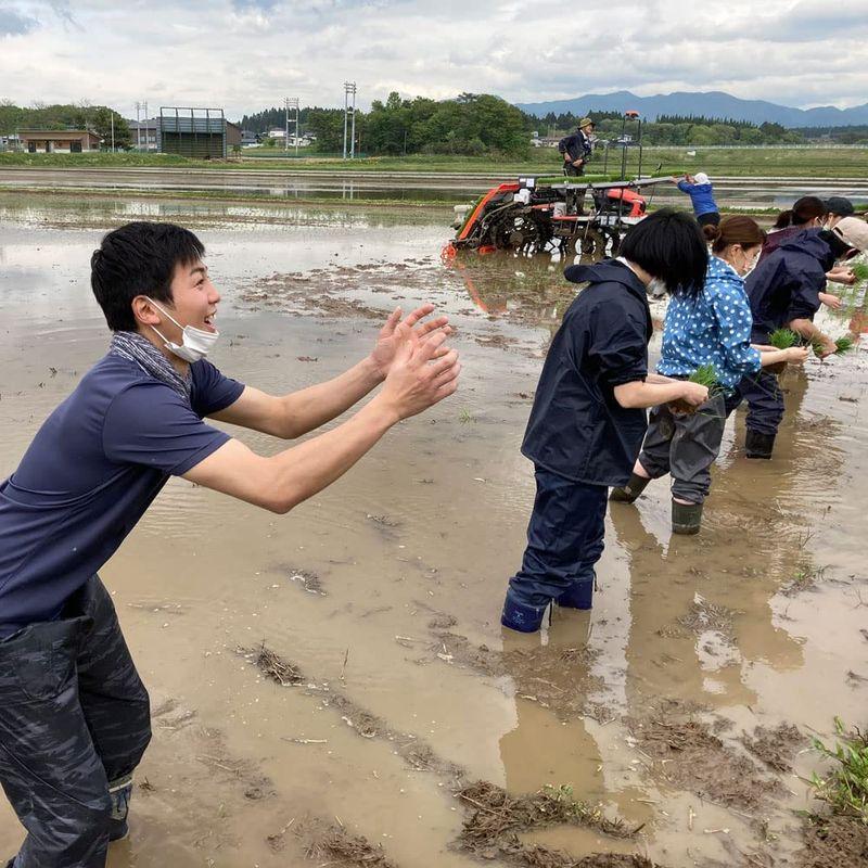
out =
[[(285, 513), (458, 383), (446, 317), (420, 323), (433, 305), (395, 310), (367, 358), (299, 392), (224, 376), (205, 358), (220, 294), (204, 253), (169, 224), (105, 235), (91, 286), (108, 353), (0, 484), (0, 783), (27, 831), (14, 868), (103, 868), (127, 833), (149, 700), (97, 572), (169, 475)], [(203, 421), (294, 438), (381, 385), (343, 424), (268, 458)]]

